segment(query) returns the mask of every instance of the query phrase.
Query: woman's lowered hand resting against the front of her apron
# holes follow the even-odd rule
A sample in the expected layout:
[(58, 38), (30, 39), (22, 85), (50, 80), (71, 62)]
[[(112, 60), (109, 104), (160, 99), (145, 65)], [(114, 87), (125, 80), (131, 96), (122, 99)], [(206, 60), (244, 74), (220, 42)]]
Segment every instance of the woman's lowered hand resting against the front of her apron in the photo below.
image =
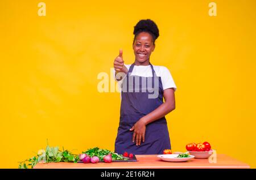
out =
[(136, 145), (141, 145), (141, 140), (145, 142), (146, 122), (142, 118), (130, 128), (130, 131), (134, 131), (133, 142), (136, 140)]

